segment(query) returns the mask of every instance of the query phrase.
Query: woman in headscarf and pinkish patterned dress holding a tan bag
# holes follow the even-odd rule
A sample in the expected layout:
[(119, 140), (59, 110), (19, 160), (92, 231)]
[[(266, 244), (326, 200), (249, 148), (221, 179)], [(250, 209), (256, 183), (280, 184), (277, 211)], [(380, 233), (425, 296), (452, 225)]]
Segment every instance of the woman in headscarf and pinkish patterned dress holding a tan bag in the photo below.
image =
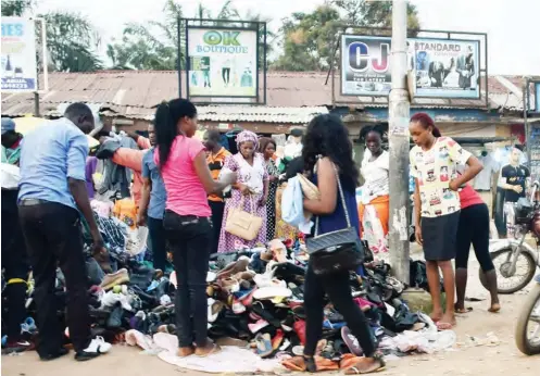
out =
[[(219, 236), (218, 252), (234, 252), (241, 248), (254, 248), (266, 243), (266, 201), (268, 199), (268, 172), (264, 156), (258, 153), (258, 137), (254, 133), (243, 130), (236, 137), (239, 152), (227, 156), (223, 168), (237, 173), (238, 180), (233, 187), (233, 197), (226, 200), (223, 213), (222, 234)], [(244, 240), (225, 230), (227, 216), (233, 208), (239, 208), (248, 213), (263, 218), (259, 236)]]

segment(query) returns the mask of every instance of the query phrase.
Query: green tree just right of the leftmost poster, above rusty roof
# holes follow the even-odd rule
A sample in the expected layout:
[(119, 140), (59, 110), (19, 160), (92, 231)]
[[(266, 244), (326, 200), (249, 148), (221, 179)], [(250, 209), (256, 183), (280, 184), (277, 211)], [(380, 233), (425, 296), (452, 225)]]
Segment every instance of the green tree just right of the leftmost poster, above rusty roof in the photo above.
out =
[(50, 12), (46, 20), (50, 66), (62, 72), (92, 72), (103, 68), (96, 53), (101, 40), (90, 22), (77, 13)]

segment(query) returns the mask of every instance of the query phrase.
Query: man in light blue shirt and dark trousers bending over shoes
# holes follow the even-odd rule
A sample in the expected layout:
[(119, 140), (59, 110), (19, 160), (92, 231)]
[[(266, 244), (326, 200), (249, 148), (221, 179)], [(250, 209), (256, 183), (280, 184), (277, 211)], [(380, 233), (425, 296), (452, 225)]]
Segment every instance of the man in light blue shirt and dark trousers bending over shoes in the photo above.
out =
[[(79, 211), (90, 227), (95, 254), (104, 254), (103, 239), (86, 190), (85, 164), (93, 115), (84, 103), (73, 103), (64, 117), (50, 121), (25, 136), (21, 148), (18, 215), (33, 266), (41, 360), (65, 355), (63, 328), (56, 317), (56, 264), (65, 276), (67, 326), (76, 351), (86, 361), (105, 353), (111, 344), (90, 337), (87, 272)], [(78, 209), (78, 210), (77, 210)]]

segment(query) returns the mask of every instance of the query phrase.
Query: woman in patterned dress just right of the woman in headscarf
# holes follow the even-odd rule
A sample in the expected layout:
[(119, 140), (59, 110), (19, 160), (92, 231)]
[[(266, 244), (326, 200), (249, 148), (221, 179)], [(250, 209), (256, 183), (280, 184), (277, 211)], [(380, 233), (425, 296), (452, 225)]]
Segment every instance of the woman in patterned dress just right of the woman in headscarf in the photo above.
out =
[(266, 239), (274, 239), (276, 233), (276, 191), (279, 172), (274, 162), (276, 152), (276, 141), (272, 138), (263, 137), (259, 140), (259, 152), (263, 154), (268, 172), (268, 201), (266, 202)]

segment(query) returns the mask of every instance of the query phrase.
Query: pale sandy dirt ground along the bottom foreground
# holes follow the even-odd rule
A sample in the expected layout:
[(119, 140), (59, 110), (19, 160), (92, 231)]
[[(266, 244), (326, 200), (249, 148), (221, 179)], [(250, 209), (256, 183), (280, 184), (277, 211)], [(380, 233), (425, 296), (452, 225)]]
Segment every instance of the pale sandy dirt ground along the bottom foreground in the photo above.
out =
[[(476, 276), (477, 264), (472, 262), (467, 296), (487, 298)], [(468, 303), (474, 311), (459, 318), (455, 328), (457, 344), (454, 351), (392, 361), (388, 364), (387, 371), (378, 375), (539, 375), (540, 355), (526, 358), (514, 344), (515, 321), (525, 291), (501, 298), (500, 314), (487, 312), (488, 301)], [(468, 343), (468, 336), (485, 338), (488, 333), (493, 333), (500, 342), (492, 346), (460, 346)], [(20, 356), (2, 356), (1, 369), (4, 376), (148, 376), (149, 374), (171, 375), (178, 371), (188, 375), (198, 374), (177, 369), (156, 356), (141, 354), (138, 350), (125, 346), (116, 346), (110, 354), (88, 363), (77, 363), (73, 356), (43, 363), (38, 360), (35, 352)]]

